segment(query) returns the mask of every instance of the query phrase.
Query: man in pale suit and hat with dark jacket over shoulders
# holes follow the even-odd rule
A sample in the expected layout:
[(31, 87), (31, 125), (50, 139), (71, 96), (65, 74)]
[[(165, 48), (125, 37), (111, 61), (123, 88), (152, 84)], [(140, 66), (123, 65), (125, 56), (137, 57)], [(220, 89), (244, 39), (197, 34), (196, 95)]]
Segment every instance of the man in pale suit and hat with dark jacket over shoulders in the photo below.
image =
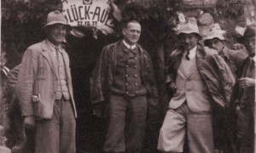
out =
[(160, 129), (158, 150), (183, 152), (187, 137), (190, 153), (213, 153), (219, 148), (215, 121), (230, 101), (235, 79), (224, 59), (199, 43), (196, 20), (178, 26), (177, 37), (181, 45), (170, 55), (166, 78), (175, 94)]

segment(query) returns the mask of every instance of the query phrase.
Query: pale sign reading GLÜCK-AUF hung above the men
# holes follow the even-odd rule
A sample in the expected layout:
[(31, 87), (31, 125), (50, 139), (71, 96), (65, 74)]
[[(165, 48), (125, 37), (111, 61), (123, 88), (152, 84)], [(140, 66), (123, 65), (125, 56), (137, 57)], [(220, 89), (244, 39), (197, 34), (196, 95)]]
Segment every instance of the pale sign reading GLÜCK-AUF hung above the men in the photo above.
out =
[(110, 26), (108, 0), (63, 0), (63, 15), (70, 26)]

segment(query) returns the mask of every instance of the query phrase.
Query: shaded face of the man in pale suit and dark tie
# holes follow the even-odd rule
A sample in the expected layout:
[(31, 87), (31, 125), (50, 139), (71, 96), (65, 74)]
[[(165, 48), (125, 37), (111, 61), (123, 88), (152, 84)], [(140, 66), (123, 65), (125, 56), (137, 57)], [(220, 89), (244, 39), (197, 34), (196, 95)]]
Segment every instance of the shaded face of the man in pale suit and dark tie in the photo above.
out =
[(197, 37), (195, 33), (182, 34), (181, 36), (181, 42), (183, 43), (185, 50), (195, 48), (198, 41), (199, 37)]

